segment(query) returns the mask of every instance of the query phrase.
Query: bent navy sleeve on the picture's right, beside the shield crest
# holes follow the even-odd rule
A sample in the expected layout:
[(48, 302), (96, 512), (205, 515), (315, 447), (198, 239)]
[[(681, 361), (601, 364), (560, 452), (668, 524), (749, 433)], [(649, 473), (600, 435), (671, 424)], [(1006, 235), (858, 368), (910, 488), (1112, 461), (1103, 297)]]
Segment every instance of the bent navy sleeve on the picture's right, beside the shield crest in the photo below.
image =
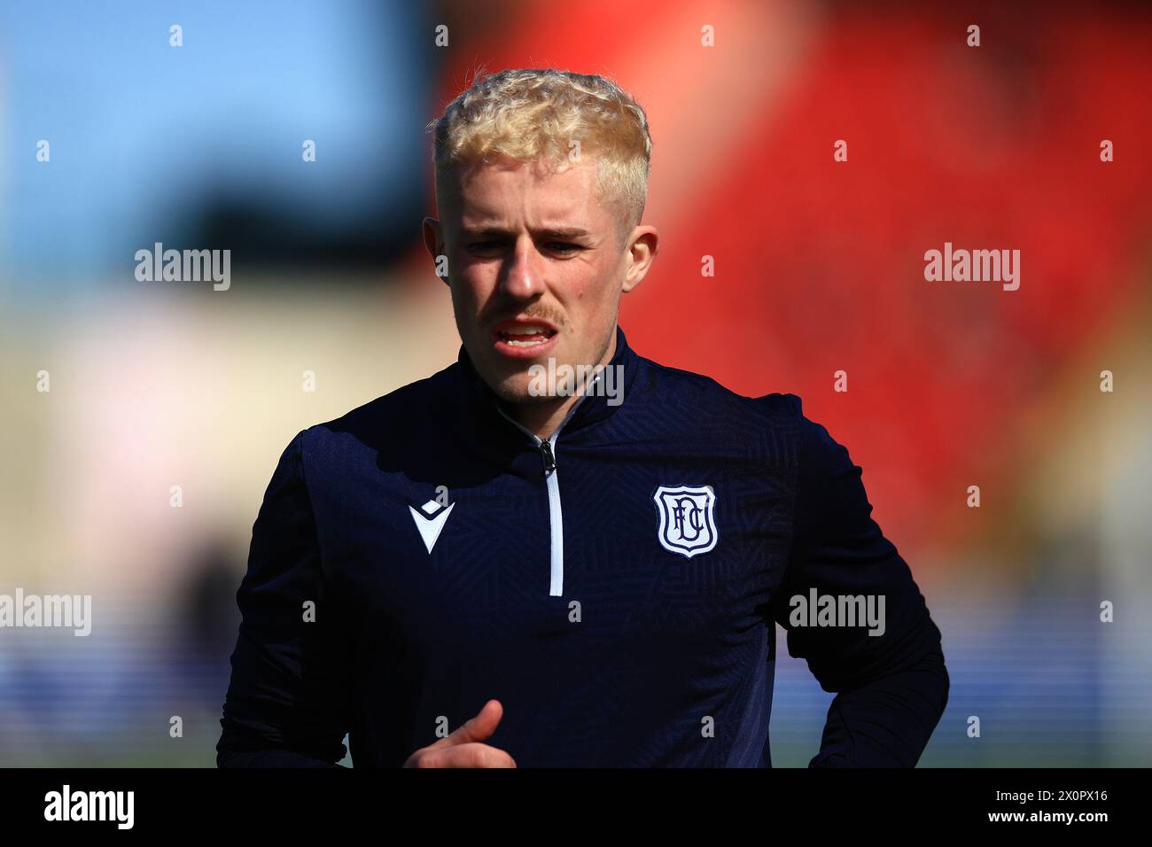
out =
[[(872, 520), (862, 469), (820, 424), (799, 417), (791, 555), (773, 599), (788, 653), (808, 660), (828, 709), (810, 767), (912, 767), (948, 702), (940, 630), (908, 565)], [(884, 633), (798, 626), (803, 596), (882, 596)], [(878, 608), (878, 605), (876, 606)], [(794, 618), (796, 615), (796, 618)]]

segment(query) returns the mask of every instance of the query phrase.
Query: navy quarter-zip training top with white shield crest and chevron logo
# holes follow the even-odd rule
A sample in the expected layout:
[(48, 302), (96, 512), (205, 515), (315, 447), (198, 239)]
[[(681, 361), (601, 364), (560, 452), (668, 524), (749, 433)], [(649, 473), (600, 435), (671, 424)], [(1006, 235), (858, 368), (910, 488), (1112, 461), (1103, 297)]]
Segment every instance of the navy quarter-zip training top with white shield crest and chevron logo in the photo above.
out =
[(793, 394), (741, 396), (619, 327), (611, 365), (622, 392), (601, 373), (547, 441), (463, 347), (293, 438), (218, 765), (334, 765), (347, 734), (356, 766), (400, 766), (497, 698), (486, 743), (522, 767), (771, 766), (775, 623), (836, 693), (810, 765), (916, 764), (948, 674), (861, 468)]

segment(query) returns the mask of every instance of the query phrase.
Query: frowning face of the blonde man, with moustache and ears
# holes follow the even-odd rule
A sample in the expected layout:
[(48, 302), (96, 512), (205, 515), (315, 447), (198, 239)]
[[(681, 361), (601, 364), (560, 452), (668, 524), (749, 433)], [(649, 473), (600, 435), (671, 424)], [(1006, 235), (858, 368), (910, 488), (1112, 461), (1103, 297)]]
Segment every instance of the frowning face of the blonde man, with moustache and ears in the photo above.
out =
[(594, 177), (586, 156), (551, 171), (511, 160), (458, 167), (440, 187), (441, 220), (425, 220), (429, 250), (448, 257), (464, 349), (509, 402), (554, 401), (529, 392), (533, 364), (606, 363), (620, 295), (650, 262), (654, 244), (645, 237), (637, 266), (636, 230), (621, 242), (621, 211), (601, 203)]

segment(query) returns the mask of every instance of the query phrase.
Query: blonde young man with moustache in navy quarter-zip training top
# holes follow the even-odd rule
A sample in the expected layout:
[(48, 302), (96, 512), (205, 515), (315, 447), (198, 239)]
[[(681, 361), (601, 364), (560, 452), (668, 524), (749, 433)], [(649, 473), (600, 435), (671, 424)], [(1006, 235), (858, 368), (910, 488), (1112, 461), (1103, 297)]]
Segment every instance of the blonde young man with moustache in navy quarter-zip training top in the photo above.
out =
[(616, 325), (643, 109), (506, 70), (434, 122), (458, 361), (300, 432), (252, 530), (218, 763), (770, 766), (775, 623), (836, 691), (819, 766), (916, 764), (940, 633), (861, 469)]

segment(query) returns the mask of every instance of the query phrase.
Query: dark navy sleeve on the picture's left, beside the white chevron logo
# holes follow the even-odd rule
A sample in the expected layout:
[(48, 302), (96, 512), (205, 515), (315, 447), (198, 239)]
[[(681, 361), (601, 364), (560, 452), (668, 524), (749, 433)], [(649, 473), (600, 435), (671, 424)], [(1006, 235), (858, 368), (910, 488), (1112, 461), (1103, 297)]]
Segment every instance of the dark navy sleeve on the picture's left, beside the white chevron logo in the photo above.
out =
[(280, 456), (252, 527), (220, 767), (335, 767), (347, 753), (349, 651), (340, 615), (326, 605), (303, 436)]

